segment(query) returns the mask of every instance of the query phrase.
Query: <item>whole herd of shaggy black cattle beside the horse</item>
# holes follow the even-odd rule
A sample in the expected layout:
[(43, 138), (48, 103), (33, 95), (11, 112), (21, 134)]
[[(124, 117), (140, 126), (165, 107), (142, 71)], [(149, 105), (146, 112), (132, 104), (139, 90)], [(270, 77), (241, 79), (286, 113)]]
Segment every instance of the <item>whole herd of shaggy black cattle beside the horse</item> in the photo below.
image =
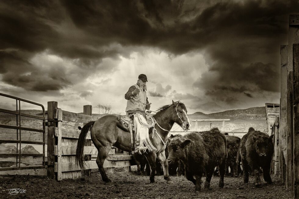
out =
[[(259, 174), (262, 172), (264, 180), (270, 184), (272, 183), (270, 165), (274, 151), (272, 137), (273, 135), (268, 136), (252, 127), (242, 139), (222, 134), (218, 128), (184, 136), (171, 135), (165, 149), (169, 174), (178, 176), (185, 174), (186, 178), (195, 184), (195, 190), (201, 189), (203, 175), (206, 176), (204, 188), (210, 189), (211, 178), (218, 172), (221, 188), (224, 186), (225, 174), (238, 177), (241, 172), (243, 172), (244, 183), (248, 183), (249, 173), (252, 172), (255, 186), (260, 186)], [(138, 173), (149, 175), (149, 166), (146, 166), (146, 158), (143, 158), (143, 160), (138, 158), (139, 160), (136, 161)], [(243, 171), (240, 167), (241, 162)], [(156, 163), (157, 175), (161, 175), (160, 162), (157, 160)], [(230, 168), (230, 173), (228, 168)]]

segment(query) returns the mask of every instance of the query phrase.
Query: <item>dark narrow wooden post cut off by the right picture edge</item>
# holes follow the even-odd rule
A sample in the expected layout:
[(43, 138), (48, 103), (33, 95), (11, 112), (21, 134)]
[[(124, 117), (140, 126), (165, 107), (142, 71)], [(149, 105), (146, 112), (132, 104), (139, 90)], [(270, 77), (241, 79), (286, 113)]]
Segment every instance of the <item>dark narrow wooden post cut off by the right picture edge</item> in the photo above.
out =
[(293, 196), (299, 198), (299, 44), (293, 45), (293, 114)]

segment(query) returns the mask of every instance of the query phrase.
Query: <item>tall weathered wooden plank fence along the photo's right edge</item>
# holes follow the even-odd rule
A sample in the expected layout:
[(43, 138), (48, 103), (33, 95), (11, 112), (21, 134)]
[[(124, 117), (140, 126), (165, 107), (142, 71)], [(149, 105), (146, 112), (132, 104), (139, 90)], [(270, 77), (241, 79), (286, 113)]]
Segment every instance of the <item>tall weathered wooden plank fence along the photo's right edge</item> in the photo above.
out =
[(288, 45), (281, 45), (280, 58), (279, 128), (272, 128), (278, 142), (274, 159), (279, 163), (274, 165), (274, 172), (292, 196), (299, 198), (299, 15), (289, 17)]

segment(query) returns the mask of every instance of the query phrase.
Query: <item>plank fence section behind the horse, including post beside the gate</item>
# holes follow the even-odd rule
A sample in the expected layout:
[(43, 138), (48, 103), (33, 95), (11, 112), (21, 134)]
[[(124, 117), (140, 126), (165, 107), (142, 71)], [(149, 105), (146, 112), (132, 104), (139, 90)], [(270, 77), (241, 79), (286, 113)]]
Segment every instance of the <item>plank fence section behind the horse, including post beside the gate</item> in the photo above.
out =
[[(52, 115), (50, 116), (49, 114)], [(80, 130), (77, 127), (99, 118), (92, 115), (63, 111), (61, 108), (57, 108), (57, 102), (53, 101), (48, 102), (48, 118), (52, 118), (54, 121), (54, 126), (48, 126), (48, 176), (57, 180), (78, 179), (81, 176), (82, 169), (75, 163), (77, 140), (80, 134)], [(86, 140), (87, 142), (85, 143), (91, 141), (90, 132), (87, 134)], [(90, 146), (85, 145), (84, 155), (90, 157), (90, 155), (97, 154), (98, 150), (96, 147), (91, 146), (91, 144)], [(128, 169), (129, 166), (136, 165), (132, 159), (132, 155), (126, 154), (116, 154), (113, 147), (104, 162), (104, 168), (107, 171), (113, 172), (113, 168), (115, 167), (125, 167)], [(85, 171), (98, 168), (96, 162), (91, 160), (91, 158), (89, 160), (85, 159), (84, 162)], [(90, 175), (88, 172), (84, 174)]]

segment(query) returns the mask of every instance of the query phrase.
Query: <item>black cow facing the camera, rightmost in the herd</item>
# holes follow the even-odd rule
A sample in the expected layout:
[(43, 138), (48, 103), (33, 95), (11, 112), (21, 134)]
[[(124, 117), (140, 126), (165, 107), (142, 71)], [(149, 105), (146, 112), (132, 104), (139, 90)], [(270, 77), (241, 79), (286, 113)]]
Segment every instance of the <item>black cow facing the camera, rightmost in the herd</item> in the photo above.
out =
[(248, 183), (248, 170), (251, 167), (254, 175), (254, 185), (261, 185), (259, 176), (260, 167), (263, 169), (264, 180), (271, 184), (270, 166), (274, 146), (272, 142), (273, 135), (268, 136), (266, 133), (254, 130), (250, 127), (241, 139), (240, 155), (243, 166), (244, 183)]

